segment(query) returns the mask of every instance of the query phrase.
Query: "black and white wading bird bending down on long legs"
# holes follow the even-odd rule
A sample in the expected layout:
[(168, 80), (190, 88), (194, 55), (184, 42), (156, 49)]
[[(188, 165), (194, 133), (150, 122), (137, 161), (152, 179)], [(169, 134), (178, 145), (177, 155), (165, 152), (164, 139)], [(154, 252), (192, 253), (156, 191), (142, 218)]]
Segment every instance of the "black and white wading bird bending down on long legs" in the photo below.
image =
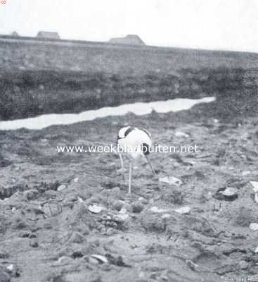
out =
[(141, 128), (134, 128), (132, 126), (127, 126), (121, 128), (117, 136), (117, 152), (120, 157), (122, 166), (122, 175), (124, 179), (124, 161), (122, 156), (129, 159), (129, 189), (128, 193), (131, 193), (131, 176), (133, 171), (133, 163), (140, 159), (146, 158), (148, 164), (150, 165), (153, 175), (155, 171), (153, 166), (150, 164), (148, 155), (152, 147), (151, 135), (150, 133)]

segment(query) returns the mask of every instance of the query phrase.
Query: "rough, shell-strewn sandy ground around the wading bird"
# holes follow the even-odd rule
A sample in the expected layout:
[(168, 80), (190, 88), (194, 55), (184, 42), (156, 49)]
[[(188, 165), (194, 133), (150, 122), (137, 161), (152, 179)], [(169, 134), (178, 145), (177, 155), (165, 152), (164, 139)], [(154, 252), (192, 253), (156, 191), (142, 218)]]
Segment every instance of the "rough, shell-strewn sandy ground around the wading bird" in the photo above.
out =
[[(237, 125), (204, 111), (1, 132), (0, 281), (218, 282), (257, 274), (250, 223), (258, 209), (249, 181), (258, 179), (258, 118)], [(160, 145), (196, 144), (199, 152), (153, 153), (158, 177), (136, 164), (127, 195), (117, 155), (56, 151), (115, 144), (127, 124), (148, 129)], [(158, 180), (165, 176), (182, 184)], [(235, 200), (216, 199), (226, 187), (236, 188)], [(91, 204), (102, 211), (91, 213)], [(175, 212), (180, 207), (191, 210)]]

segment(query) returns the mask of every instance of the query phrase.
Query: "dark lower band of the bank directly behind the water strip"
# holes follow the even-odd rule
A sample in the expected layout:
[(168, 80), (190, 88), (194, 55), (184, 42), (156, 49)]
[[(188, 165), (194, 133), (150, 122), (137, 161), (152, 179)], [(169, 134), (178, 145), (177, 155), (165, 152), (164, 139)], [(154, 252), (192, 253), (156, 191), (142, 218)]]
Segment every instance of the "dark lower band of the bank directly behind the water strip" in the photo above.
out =
[(243, 103), (255, 97), (258, 69), (193, 68), (143, 75), (82, 71), (1, 71), (1, 120), (72, 113), (129, 102), (216, 96)]

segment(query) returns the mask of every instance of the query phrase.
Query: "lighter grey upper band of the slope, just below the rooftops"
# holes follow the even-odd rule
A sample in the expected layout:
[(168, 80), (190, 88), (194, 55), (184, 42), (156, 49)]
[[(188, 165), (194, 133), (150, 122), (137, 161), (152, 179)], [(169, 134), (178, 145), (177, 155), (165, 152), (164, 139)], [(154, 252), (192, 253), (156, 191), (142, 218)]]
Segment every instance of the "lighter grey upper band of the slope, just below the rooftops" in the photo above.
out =
[(4, 69), (36, 68), (122, 75), (157, 71), (174, 74), (181, 68), (257, 68), (258, 54), (0, 37), (0, 66)]

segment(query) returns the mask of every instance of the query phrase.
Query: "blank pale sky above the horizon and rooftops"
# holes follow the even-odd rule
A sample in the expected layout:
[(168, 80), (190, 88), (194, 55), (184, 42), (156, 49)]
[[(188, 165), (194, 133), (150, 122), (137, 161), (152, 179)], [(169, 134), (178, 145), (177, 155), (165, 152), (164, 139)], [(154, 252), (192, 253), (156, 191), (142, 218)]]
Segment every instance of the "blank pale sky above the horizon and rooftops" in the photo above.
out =
[[(0, 0), (0, 3), (3, 0)], [(0, 34), (258, 52), (258, 0), (4, 0)]]

